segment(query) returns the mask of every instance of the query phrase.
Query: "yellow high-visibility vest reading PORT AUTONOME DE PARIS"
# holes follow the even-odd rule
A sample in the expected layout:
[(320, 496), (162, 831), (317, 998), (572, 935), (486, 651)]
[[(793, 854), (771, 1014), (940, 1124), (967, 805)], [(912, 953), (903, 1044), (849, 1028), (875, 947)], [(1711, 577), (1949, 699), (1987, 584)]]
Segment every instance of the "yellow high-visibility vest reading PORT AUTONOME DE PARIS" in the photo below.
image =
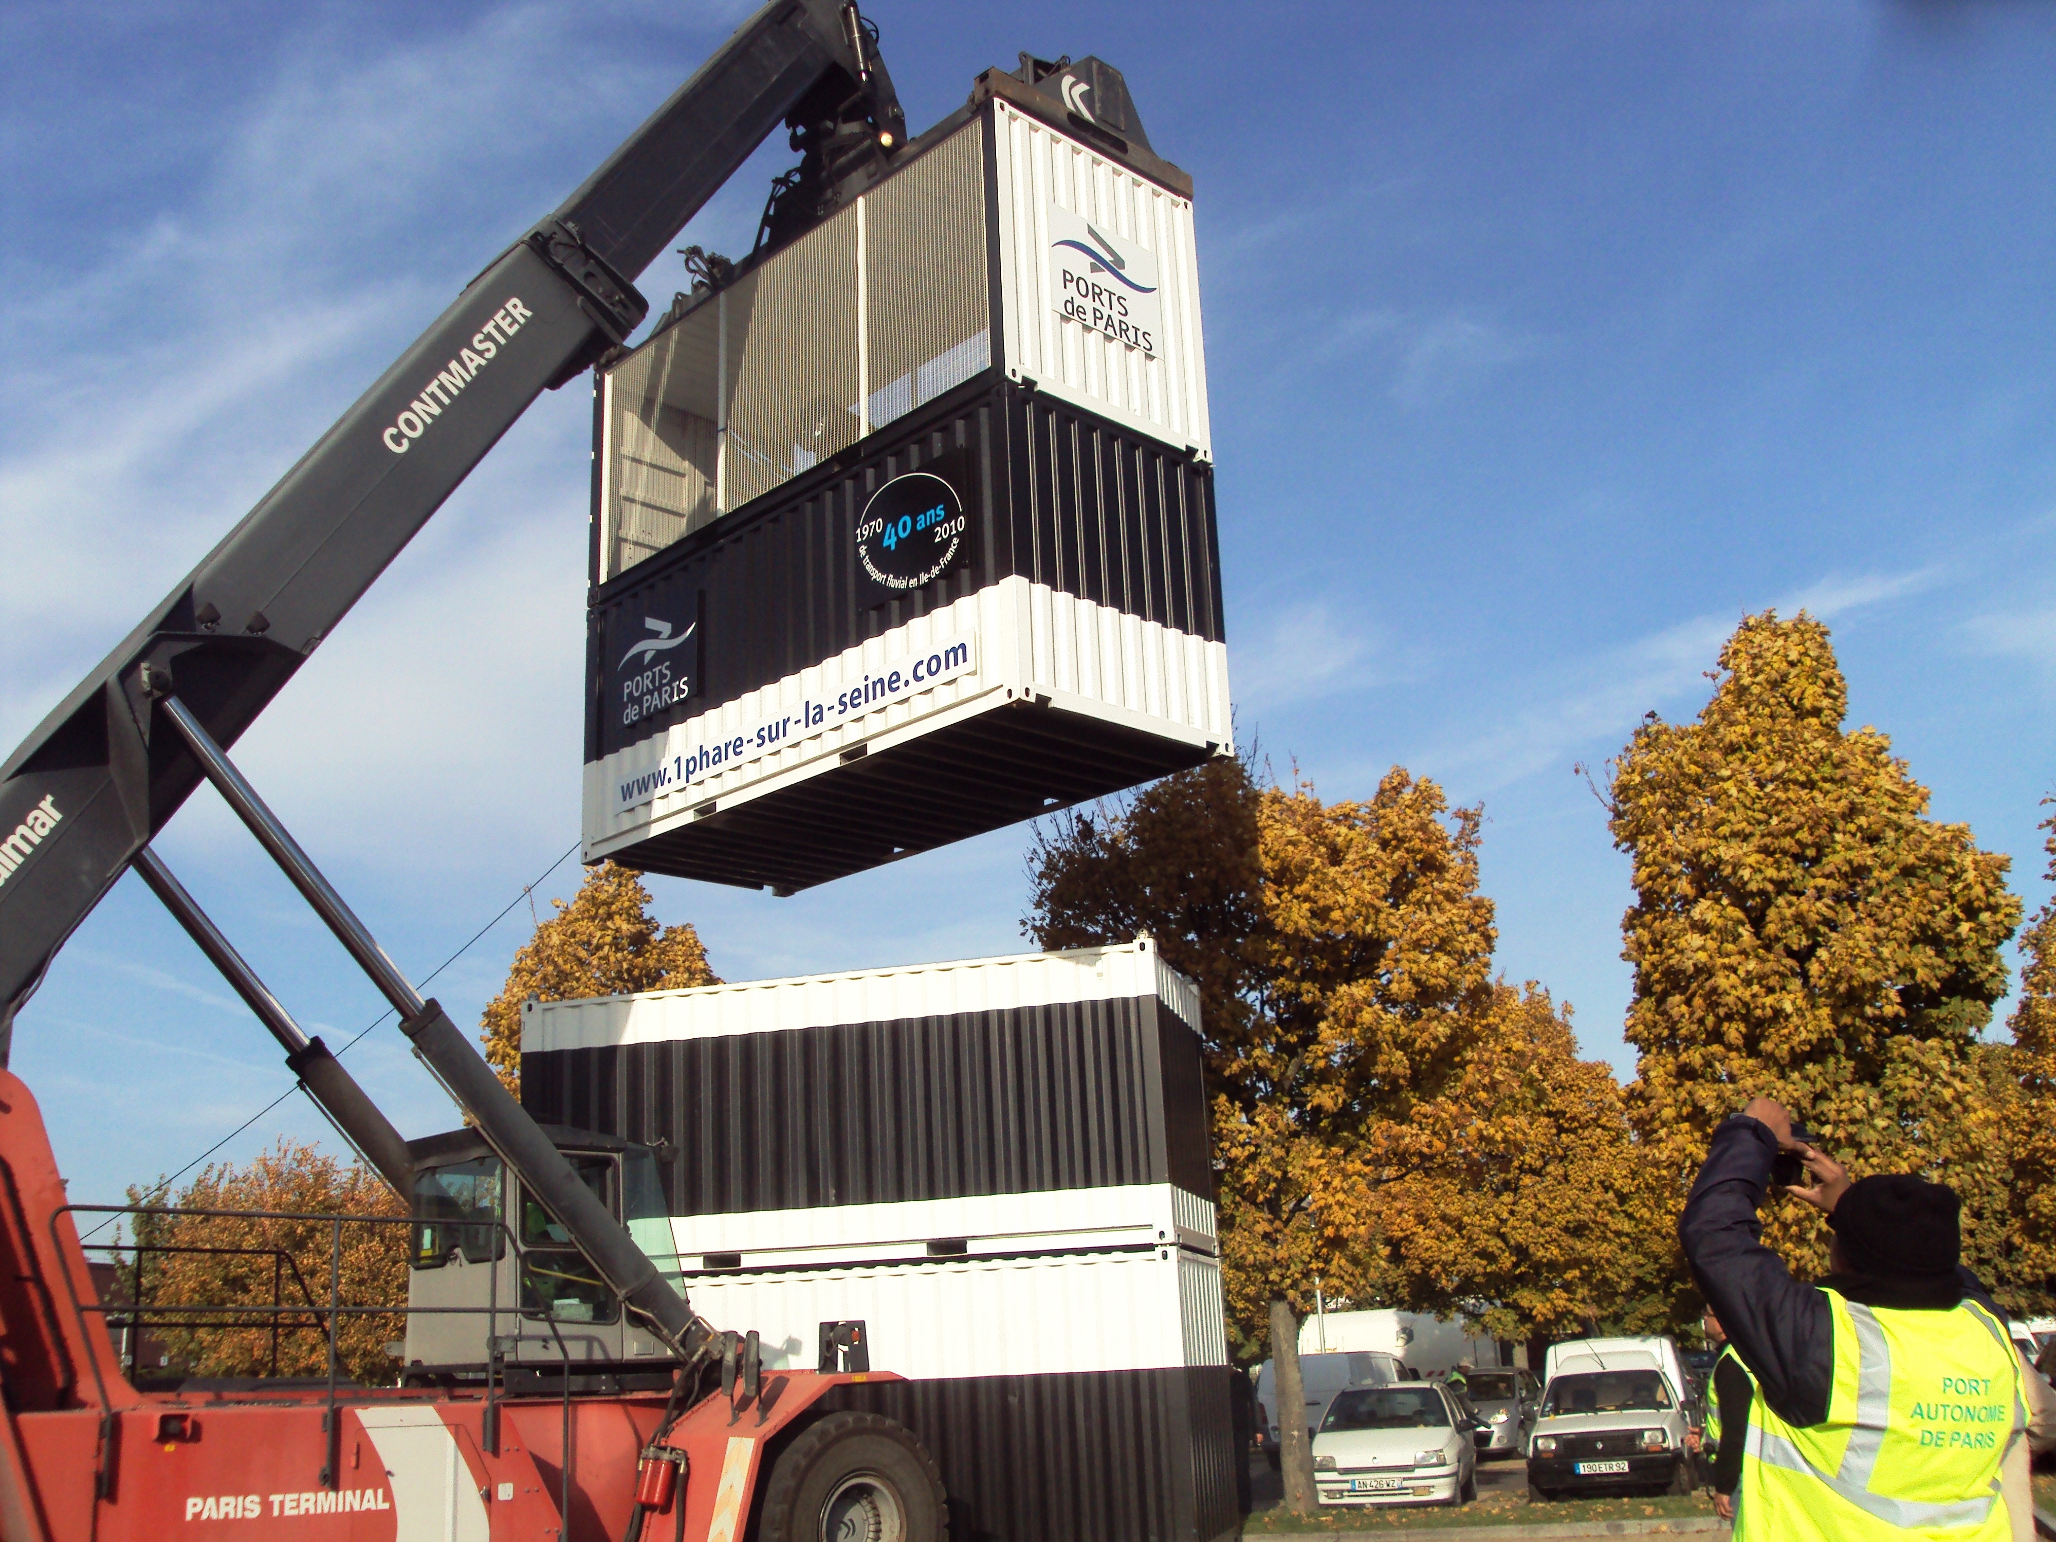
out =
[(1824, 1295), (1828, 1417), (1787, 1425), (1758, 1388), (1737, 1542), (2011, 1542), (1998, 1466), (2027, 1406), (2005, 1324), (1974, 1301), (1898, 1312)]

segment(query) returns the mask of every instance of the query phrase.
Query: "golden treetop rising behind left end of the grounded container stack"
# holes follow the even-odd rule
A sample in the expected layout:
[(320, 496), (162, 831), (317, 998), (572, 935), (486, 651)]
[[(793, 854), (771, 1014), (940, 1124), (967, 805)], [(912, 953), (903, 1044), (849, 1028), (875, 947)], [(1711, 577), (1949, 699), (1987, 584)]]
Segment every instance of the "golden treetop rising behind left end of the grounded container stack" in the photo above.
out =
[(664, 927), (650, 915), (650, 890), (635, 868), (602, 861), (570, 905), (514, 954), (508, 983), (485, 1007), (479, 1042), (508, 1090), (520, 1094), (520, 1007), (623, 991), (720, 985), (691, 925)]

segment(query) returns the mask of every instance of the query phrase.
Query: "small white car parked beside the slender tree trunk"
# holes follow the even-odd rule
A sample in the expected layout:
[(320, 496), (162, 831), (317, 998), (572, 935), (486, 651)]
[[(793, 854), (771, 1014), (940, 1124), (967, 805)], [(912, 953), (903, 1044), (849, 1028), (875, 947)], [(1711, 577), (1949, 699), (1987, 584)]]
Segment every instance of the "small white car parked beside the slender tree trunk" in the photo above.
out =
[(1478, 1497), (1476, 1423), (1439, 1382), (1353, 1386), (1314, 1435), (1324, 1505), (1464, 1505)]

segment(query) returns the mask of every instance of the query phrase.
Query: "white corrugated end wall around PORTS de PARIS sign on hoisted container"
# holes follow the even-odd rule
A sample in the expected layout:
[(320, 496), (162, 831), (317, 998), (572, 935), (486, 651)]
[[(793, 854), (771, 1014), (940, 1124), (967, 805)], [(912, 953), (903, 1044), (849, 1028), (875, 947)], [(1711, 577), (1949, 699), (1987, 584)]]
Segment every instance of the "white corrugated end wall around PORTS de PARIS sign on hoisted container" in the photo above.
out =
[[(993, 113), (1005, 368), (1051, 395), (1211, 456), (1192, 204), (1005, 101), (995, 101)], [(1155, 358), (1061, 315), (1063, 296), (1051, 278), (1051, 249), (1061, 241), (1051, 228), (1053, 210), (1151, 255), (1164, 327)]]

